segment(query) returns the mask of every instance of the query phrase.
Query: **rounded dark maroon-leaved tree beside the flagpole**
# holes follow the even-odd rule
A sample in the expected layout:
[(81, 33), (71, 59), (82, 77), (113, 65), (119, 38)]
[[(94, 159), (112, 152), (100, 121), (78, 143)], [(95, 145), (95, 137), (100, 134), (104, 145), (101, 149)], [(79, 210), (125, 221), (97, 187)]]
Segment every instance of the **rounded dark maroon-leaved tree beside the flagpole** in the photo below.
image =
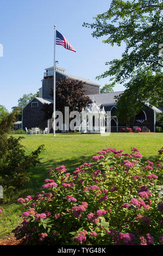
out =
[[(53, 97), (53, 89), (50, 94)], [(56, 82), (55, 90), (55, 108), (57, 111), (65, 113), (65, 107), (69, 107), (71, 111), (82, 111), (82, 108), (91, 103), (91, 99), (85, 96), (85, 84), (82, 81), (71, 81), (70, 79)], [(42, 111), (44, 112), (45, 119), (52, 118), (53, 114), (53, 103), (44, 104)]]

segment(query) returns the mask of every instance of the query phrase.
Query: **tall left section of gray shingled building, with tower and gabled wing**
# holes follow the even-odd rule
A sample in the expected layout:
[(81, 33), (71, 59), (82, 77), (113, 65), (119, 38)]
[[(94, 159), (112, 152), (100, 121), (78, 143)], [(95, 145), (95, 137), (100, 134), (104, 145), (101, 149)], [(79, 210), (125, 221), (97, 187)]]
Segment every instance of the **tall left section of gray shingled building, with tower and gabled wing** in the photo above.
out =
[[(45, 69), (42, 87), (39, 89), (39, 97), (35, 97), (32, 101), (28, 103), (22, 111), (22, 127), (23, 129), (31, 129), (32, 127), (39, 127), (41, 130), (44, 130), (45, 127), (48, 127), (48, 131), (52, 132), (52, 119), (44, 120), (43, 112), (41, 111), (42, 105), (44, 103), (52, 103), (52, 96), (50, 95), (51, 89), (53, 88), (53, 67)], [(78, 80), (85, 82), (86, 94), (99, 94), (100, 84), (92, 82), (89, 79), (69, 75), (65, 73), (65, 69), (56, 67), (56, 81), (60, 78), (65, 79), (69, 78), (70, 80)]]

